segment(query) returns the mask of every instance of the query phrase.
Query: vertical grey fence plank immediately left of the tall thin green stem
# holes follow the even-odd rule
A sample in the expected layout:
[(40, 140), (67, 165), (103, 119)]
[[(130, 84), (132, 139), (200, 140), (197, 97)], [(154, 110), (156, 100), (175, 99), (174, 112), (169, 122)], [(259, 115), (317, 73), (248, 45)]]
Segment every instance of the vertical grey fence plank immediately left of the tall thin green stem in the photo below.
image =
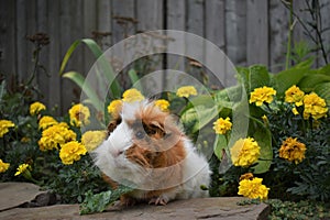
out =
[(288, 10), (277, 0), (270, 1), (270, 70), (285, 67), (285, 52), (288, 33)]

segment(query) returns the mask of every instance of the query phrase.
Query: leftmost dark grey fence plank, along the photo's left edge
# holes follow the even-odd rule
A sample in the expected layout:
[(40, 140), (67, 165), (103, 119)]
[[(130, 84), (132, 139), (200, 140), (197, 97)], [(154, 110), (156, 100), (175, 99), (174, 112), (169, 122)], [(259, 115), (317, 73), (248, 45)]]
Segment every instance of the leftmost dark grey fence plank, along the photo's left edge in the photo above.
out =
[(0, 1), (0, 75), (8, 79), (16, 74), (15, 4), (15, 1)]

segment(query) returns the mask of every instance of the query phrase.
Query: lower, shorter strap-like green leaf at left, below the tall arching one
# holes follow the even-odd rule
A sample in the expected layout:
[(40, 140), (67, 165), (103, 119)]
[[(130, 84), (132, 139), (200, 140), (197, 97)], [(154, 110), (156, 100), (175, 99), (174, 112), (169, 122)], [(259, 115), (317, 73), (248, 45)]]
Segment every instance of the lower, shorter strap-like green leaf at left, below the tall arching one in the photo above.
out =
[(68, 73), (65, 73), (63, 75), (63, 77), (68, 78), (70, 80), (73, 80), (74, 82), (76, 82), (82, 89), (82, 91), (86, 94), (86, 96), (90, 99), (94, 107), (99, 111), (103, 111), (103, 105), (99, 100), (99, 98), (98, 98), (97, 94), (94, 91), (94, 89), (87, 82), (85, 82), (84, 76), (81, 76), (77, 72), (68, 72)]

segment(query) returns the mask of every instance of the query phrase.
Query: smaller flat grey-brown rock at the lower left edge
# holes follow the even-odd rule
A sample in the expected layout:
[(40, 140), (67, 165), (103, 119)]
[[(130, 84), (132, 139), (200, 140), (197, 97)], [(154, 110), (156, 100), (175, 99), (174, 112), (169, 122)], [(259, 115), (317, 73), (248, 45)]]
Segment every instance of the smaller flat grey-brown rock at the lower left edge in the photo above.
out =
[(0, 211), (18, 207), (43, 194), (40, 187), (29, 183), (0, 183)]

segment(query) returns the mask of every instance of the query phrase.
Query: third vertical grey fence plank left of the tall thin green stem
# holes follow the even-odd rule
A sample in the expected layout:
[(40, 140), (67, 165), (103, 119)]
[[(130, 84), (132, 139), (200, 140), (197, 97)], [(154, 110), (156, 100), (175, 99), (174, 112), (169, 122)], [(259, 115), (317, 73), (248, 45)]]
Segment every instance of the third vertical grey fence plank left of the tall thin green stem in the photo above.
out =
[(234, 65), (246, 65), (246, 1), (226, 1), (227, 55)]

